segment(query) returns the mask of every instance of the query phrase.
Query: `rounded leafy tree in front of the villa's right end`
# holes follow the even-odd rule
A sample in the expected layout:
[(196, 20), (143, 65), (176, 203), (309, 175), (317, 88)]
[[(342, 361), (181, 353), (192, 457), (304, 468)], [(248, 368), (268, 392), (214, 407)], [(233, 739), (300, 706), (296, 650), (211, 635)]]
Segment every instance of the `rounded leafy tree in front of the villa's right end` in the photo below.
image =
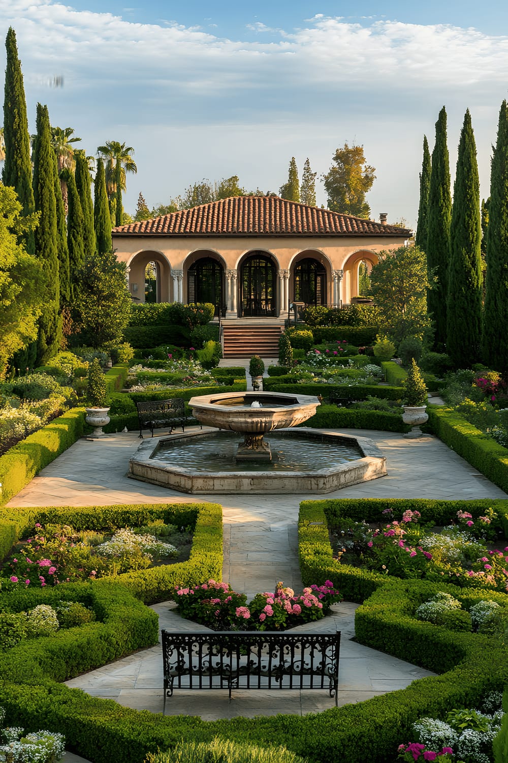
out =
[(429, 285), (425, 254), (418, 246), (399, 246), (378, 253), (370, 272), (370, 292), (382, 328), (398, 345), (406, 336), (423, 339), (430, 331), (426, 291)]

